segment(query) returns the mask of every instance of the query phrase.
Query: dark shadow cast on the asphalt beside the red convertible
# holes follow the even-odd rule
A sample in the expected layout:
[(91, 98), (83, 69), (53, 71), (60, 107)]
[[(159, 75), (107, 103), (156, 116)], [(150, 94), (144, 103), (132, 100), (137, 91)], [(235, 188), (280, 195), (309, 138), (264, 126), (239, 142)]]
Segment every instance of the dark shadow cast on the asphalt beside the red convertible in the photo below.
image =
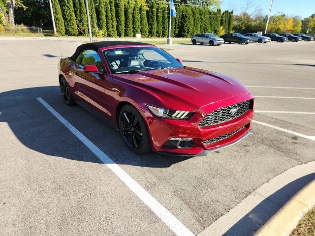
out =
[(0, 122), (6, 122), (16, 138), (32, 150), (76, 161), (102, 163), (36, 97), (44, 99), (117, 164), (167, 168), (190, 158), (153, 151), (144, 155), (132, 153), (116, 129), (79, 105), (66, 106), (59, 86), (0, 93)]

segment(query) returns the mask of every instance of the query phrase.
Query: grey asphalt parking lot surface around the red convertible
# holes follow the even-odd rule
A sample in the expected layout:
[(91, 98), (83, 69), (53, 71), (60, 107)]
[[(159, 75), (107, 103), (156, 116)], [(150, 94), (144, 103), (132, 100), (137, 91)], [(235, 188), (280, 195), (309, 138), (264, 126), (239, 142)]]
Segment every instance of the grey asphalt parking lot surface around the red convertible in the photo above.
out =
[[(138, 156), (102, 120), (63, 103), (60, 49), (71, 56), (81, 43), (0, 38), (0, 235), (175, 234), (38, 97), (194, 235), (273, 177), (315, 161), (314, 42), (160, 46), (184, 65), (240, 80), (255, 97), (254, 134), (192, 158)], [(281, 203), (267, 207), (274, 213)], [(268, 216), (248, 216), (225, 235), (252, 235)]]

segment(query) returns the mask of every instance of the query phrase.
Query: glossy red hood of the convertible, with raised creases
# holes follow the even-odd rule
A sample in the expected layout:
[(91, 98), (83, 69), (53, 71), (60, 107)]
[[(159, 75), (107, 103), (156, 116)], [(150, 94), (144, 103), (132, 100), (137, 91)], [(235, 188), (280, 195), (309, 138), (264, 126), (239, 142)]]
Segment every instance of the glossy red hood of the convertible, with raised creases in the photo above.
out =
[(250, 94), (248, 89), (233, 78), (191, 67), (139, 71), (136, 74), (114, 76), (154, 96), (158, 104), (150, 105), (168, 109), (194, 111), (225, 99), (231, 99), (233, 104), (234, 96)]

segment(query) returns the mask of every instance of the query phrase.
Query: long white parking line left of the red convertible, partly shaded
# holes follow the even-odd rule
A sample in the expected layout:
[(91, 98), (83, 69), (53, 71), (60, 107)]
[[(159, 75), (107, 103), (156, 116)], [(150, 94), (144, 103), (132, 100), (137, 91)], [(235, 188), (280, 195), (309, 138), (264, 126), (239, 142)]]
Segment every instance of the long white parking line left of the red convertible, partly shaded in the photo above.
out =
[(74, 134), (86, 147), (88, 147), (114, 174), (119, 177), (130, 188), (141, 201), (157, 214), (157, 216), (178, 236), (193, 236), (194, 234), (186, 228), (174, 215), (163, 207), (154, 197), (142, 188), (133, 178), (121, 169), (110, 157), (95, 146), (79, 130), (63, 118), (41, 97), (36, 98), (48, 111), (50, 111), (63, 125)]

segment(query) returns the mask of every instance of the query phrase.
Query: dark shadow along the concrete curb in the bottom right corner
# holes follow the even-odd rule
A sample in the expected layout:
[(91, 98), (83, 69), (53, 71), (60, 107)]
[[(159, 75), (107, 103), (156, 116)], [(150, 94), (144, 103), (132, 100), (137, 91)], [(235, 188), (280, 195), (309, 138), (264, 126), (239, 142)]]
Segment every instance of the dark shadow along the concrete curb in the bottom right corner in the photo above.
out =
[(288, 183), (254, 207), (223, 236), (251, 236), (255, 234), (287, 201), (314, 179), (315, 173), (312, 173)]

